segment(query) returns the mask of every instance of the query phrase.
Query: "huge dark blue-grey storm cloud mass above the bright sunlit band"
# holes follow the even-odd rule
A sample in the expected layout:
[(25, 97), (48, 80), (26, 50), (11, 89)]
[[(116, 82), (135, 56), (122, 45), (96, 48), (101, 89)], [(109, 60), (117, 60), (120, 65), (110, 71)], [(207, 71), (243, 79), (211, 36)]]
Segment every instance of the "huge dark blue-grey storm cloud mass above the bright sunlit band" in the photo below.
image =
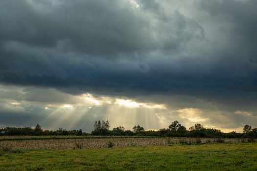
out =
[(256, 106), (254, 0), (197, 0), (191, 16), (132, 2), (1, 1), (1, 83)]

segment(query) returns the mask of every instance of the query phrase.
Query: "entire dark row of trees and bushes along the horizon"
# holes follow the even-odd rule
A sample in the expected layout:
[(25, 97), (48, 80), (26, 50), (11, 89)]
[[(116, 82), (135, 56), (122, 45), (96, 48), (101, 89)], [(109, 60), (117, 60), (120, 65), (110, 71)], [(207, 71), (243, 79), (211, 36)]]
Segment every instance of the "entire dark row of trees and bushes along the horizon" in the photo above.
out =
[(6, 127), (0, 129), (0, 135), (107, 135), (107, 136), (167, 136), (167, 137), (208, 137), (208, 138), (257, 138), (257, 128), (245, 125), (243, 133), (232, 131), (223, 133), (219, 129), (204, 128), (203, 125), (197, 123), (188, 130), (178, 121), (173, 121), (168, 128), (162, 128), (158, 131), (144, 130), (140, 125), (136, 125), (132, 130), (125, 130), (123, 126), (110, 129), (109, 121), (95, 121), (94, 130), (88, 134), (79, 130), (66, 130), (59, 128), (58, 130), (43, 130), (39, 124), (35, 128), (31, 127)]

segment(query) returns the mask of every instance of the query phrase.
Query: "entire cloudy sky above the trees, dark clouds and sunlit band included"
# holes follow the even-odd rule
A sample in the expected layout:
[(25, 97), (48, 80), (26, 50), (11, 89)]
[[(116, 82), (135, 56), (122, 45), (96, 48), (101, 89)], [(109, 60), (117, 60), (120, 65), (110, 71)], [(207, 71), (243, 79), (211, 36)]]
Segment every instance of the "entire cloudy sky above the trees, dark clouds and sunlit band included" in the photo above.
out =
[(1, 0), (0, 128), (256, 128), (256, 9), (256, 0)]

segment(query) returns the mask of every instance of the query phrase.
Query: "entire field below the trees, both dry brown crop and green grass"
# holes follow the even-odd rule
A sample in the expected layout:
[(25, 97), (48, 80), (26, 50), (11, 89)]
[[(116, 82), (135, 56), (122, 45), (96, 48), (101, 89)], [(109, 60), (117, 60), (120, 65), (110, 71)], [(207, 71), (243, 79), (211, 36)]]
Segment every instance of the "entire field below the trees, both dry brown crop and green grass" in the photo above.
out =
[(0, 171), (257, 171), (257, 141), (248, 141), (226, 138), (2, 136)]

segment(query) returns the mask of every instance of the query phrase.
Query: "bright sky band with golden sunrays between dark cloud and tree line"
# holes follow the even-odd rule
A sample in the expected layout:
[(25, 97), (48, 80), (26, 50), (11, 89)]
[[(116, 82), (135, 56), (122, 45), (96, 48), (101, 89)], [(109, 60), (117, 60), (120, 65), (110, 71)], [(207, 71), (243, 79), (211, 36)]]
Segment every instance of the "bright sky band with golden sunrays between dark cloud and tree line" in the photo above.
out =
[[(37, 96), (32, 94), (34, 92), (37, 92)], [(150, 99), (140, 101), (124, 96), (101, 96), (89, 92), (70, 95), (56, 89), (33, 88), (29, 90), (4, 85), (0, 85), (0, 94), (0, 111), (17, 113), (17, 116), (26, 117), (22, 126), (32, 126), (40, 121), (40, 124), (47, 129), (83, 128), (85, 131), (91, 131), (95, 120), (107, 119), (112, 128), (122, 125), (126, 129), (131, 129), (134, 125), (140, 124), (145, 129), (160, 129), (167, 128), (172, 121), (178, 120), (186, 128), (200, 123), (204, 127), (219, 128), (223, 131), (234, 129), (240, 132), (239, 128), (243, 124), (254, 120), (245, 119), (241, 126), (236, 126), (231, 123), (229, 117), (224, 115), (224, 112), (219, 110), (176, 107), (176, 102), (180, 101), (178, 98), (171, 101), (171, 106), (154, 103)], [(40, 99), (37, 99), (38, 97)], [(247, 110), (234, 110), (231, 116), (241, 119), (245, 116), (256, 117), (254, 111)], [(4, 119), (10, 122), (10, 125), (15, 125), (15, 123), (12, 124), (11, 117), (10, 119), (8, 117), (5, 115)], [(220, 124), (214, 124), (213, 120), (217, 120), (216, 122)]]

